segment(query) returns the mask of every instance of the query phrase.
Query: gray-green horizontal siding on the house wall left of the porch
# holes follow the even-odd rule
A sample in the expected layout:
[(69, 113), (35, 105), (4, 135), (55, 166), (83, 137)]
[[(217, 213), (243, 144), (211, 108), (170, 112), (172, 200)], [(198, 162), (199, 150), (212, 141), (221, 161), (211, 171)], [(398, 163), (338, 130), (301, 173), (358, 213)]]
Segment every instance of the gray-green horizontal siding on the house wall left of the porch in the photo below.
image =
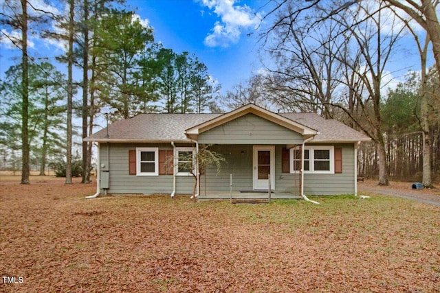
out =
[[(156, 147), (159, 150), (173, 150), (170, 143), (110, 143), (109, 194), (171, 194), (173, 192), (172, 175), (129, 175), (129, 150)], [(100, 143), (100, 160), (101, 163), (107, 161), (107, 143)], [(176, 176), (176, 193), (192, 193), (194, 182), (192, 176)]]

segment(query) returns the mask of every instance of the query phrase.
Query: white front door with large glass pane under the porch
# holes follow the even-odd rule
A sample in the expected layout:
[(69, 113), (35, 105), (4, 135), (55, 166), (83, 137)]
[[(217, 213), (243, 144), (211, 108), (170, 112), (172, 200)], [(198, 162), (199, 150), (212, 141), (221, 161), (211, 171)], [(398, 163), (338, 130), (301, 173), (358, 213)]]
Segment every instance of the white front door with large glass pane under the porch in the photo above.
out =
[(254, 189), (275, 189), (275, 146), (254, 145)]

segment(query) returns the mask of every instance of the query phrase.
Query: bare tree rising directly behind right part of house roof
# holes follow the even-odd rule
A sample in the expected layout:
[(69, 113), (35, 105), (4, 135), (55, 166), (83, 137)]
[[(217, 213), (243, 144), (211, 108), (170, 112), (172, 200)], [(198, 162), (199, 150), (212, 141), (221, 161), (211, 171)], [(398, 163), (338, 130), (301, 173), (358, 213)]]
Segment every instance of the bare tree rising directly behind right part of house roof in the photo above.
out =
[[(270, 93), (282, 108), (320, 113), (332, 117), (335, 91), (340, 84), (342, 63), (336, 52), (344, 46), (343, 27), (333, 19), (308, 27), (312, 16), (292, 19), (297, 7), (287, 5), (284, 19), (273, 30), (281, 40), (269, 49), (276, 69), (269, 69)], [(318, 12), (318, 11), (317, 11)]]

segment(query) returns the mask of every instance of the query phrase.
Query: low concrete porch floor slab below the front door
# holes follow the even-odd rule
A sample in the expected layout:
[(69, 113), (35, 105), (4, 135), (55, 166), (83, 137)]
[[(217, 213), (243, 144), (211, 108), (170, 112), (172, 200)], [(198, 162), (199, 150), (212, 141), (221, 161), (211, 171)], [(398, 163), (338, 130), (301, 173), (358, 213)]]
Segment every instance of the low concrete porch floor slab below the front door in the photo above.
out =
[[(232, 191), (232, 195), (230, 191), (207, 191), (206, 195), (202, 191), (197, 199), (199, 200), (229, 200), (232, 199), (266, 199), (268, 198), (268, 191), (252, 191), (252, 192), (243, 192), (243, 191)], [(281, 192), (281, 191), (272, 191), (270, 196), (272, 199), (302, 199), (302, 196), (297, 196), (293, 192)]]

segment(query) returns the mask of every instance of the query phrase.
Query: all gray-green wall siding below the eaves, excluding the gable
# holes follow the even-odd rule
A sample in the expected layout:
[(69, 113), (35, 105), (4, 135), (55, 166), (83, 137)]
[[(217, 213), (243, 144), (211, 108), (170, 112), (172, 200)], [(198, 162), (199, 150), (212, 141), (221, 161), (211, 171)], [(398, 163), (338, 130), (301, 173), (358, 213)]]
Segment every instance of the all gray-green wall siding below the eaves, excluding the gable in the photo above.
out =
[[(209, 195), (210, 191), (229, 191), (230, 174), (232, 174), (232, 191), (252, 190), (252, 159), (254, 144), (212, 145), (210, 150), (225, 156), (225, 162), (217, 174), (216, 167), (206, 169), (206, 175), (200, 176), (200, 195)], [(255, 144), (256, 145), (256, 144)], [(273, 145), (273, 144), (272, 144)], [(177, 145), (185, 146), (185, 145)], [(129, 175), (129, 150), (141, 147), (158, 147), (159, 150), (173, 150), (170, 143), (110, 143), (109, 174), (110, 194), (171, 194), (173, 176), (135, 176)], [(292, 192), (300, 195), (298, 174), (281, 172), (281, 154), (285, 144), (275, 147), (275, 192)], [(338, 195), (353, 194), (355, 191), (354, 177), (354, 145), (338, 144), (342, 148), (341, 174), (305, 174), (306, 195)], [(107, 144), (100, 143), (100, 160), (107, 162)], [(192, 176), (176, 176), (176, 193), (191, 194), (194, 187)], [(206, 188), (205, 188), (206, 187)], [(101, 190), (102, 192), (102, 190)]]

